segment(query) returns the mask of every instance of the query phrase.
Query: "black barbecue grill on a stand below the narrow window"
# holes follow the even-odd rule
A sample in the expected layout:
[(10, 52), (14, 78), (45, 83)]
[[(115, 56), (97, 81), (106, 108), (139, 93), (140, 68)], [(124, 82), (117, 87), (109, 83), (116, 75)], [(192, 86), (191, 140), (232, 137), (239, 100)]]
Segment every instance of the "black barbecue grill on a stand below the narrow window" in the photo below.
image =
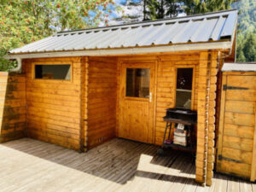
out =
[[(162, 146), (160, 149), (158, 149), (157, 154), (164, 154), (166, 148), (180, 148), (190, 151), (194, 156), (194, 143), (192, 135), (194, 136), (193, 125), (195, 125), (197, 122), (196, 111), (185, 108), (167, 108), (164, 120), (166, 121), (166, 131)], [(173, 140), (171, 139), (171, 132), (172, 128), (174, 127), (172, 126), (173, 124), (179, 125), (178, 127), (183, 127), (184, 133), (186, 134), (186, 140), (188, 140), (188, 144), (186, 143), (186, 145), (179, 145), (173, 143)]]

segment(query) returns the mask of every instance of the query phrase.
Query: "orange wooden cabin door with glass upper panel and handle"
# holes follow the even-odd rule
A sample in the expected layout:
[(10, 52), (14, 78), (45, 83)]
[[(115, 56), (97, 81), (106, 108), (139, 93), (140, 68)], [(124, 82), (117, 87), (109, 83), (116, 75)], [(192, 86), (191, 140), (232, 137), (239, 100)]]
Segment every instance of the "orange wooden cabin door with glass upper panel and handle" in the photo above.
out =
[(153, 143), (154, 63), (123, 63), (120, 74), (119, 137)]

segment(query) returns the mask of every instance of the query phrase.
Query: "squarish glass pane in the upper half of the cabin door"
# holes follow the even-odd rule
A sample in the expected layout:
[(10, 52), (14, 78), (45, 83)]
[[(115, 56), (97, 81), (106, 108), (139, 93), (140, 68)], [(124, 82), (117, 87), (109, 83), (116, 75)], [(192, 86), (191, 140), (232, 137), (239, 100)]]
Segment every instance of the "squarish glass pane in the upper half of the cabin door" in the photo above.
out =
[(126, 96), (149, 97), (150, 69), (126, 69)]

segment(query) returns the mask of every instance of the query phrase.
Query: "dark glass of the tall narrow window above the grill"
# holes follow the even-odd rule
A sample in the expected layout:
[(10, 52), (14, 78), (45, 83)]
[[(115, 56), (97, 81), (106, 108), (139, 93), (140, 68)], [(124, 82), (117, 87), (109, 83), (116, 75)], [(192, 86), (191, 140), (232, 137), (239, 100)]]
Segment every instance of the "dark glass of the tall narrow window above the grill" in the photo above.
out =
[(193, 68), (177, 68), (176, 107), (191, 109)]

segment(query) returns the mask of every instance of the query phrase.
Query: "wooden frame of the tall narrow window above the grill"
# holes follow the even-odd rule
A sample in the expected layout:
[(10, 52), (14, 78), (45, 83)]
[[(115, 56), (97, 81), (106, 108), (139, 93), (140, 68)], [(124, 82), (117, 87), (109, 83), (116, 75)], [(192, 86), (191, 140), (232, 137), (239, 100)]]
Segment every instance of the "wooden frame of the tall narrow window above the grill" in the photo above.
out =
[(192, 89), (191, 89), (191, 110), (195, 110), (195, 70), (196, 67), (195, 65), (177, 65), (175, 66), (174, 70), (174, 93), (173, 93), (173, 98), (174, 98), (174, 108), (176, 108), (176, 93), (177, 93), (177, 69), (178, 68), (192, 68), (193, 69), (193, 74), (192, 74)]

